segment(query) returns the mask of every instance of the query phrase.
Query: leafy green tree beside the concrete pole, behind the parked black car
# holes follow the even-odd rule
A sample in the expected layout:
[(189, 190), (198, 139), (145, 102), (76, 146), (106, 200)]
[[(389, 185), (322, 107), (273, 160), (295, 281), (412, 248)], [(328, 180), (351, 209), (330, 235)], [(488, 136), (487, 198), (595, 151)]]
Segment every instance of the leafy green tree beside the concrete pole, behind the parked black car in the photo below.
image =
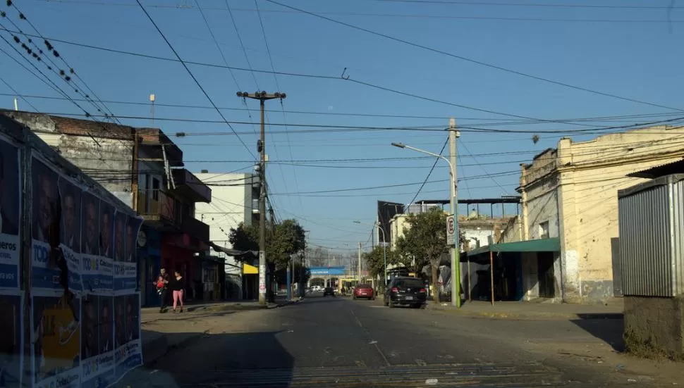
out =
[(404, 228), (403, 236), (396, 243), (398, 254), (403, 261), (413, 261), (416, 273), (430, 265), (433, 296), (439, 302), (437, 270), (442, 255), (449, 248), (446, 244), (446, 213), (439, 208), (431, 208), (425, 213), (409, 214), (406, 222), (408, 227)]

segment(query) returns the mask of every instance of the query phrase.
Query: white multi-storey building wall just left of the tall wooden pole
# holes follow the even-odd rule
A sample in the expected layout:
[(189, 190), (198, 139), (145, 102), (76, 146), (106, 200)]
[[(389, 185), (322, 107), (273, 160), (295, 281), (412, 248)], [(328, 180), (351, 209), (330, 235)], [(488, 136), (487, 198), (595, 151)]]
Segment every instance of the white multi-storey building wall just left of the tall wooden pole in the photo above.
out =
[[(221, 173), (195, 173), (197, 179), (212, 188), (212, 202), (210, 204), (195, 204), (195, 218), (209, 225), (209, 239), (224, 248), (232, 248), (228, 242), (228, 234), (231, 228), (238, 227), (240, 223), (252, 225), (252, 206), (258, 211), (258, 204), (252, 200), (259, 199), (258, 194), (252, 192), (252, 177), (258, 182), (258, 177), (252, 174), (221, 174)], [(226, 184), (235, 184), (227, 186)], [(226, 258), (226, 263), (239, 265), (232, 257), (226, 257), (221, 252), (216, 253), (221, 258)], [(230, 265), (226, 265), (226, 272), (234, 272)]]

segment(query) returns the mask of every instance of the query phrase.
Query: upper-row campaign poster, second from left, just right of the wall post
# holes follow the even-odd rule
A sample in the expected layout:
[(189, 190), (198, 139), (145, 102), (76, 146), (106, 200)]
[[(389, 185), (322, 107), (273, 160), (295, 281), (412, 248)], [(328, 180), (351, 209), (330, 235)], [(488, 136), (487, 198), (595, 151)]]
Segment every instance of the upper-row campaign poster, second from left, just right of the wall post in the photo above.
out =
[(53, 249), (59, 247), (58, 175), (39, 158), (31, 163), (32, 175), (32, 289), (63, 289)]

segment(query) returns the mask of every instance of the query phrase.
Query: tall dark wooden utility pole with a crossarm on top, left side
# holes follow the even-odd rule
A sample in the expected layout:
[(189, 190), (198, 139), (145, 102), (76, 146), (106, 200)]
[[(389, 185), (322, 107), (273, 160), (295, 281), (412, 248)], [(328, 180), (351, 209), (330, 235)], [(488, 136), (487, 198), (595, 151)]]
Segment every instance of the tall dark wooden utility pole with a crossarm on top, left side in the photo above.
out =
[(259, 100), (261, 108), (261, 136), (257, 142), (259, 151), (259, 304), (266, 304), (266, 129), (264, 120), (264, 101), (284, 99), (285, 93), (268, 94), (267, 92), (238, 92), (243, 99)]

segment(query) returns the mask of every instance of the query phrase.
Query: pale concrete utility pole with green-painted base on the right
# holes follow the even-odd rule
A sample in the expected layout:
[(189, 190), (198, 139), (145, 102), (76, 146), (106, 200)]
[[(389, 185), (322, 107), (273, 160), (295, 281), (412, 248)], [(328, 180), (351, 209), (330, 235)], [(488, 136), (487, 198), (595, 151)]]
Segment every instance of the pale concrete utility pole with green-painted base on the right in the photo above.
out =
[[(460, 308), (460, 249), (458, 234), (458, 182), (456, 180), (456, 138), (460, 133), (456, 130), (456, 119), (449, 119), (449, 161), (453, 166), (451, 174), (451, 213), (453, 213), (453, 246), (451, 247), (451, 305)], [(470, 274), (468, 274), (470, 276)]]

